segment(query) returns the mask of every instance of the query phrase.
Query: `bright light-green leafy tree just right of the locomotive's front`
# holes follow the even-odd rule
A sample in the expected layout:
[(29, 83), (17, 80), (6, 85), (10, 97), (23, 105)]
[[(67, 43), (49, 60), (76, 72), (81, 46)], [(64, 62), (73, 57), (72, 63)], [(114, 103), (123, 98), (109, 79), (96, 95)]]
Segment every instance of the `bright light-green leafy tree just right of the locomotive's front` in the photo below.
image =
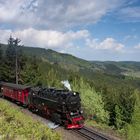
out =
[(82, 108), (85, 112), (85, 118), (98, 123), (108, 124), (109, 115), (104, 109), (104, 102), (101, 93), (95, 91), (93, 87), (81, 77), (71, 78), (72, 89), (80, 92)]

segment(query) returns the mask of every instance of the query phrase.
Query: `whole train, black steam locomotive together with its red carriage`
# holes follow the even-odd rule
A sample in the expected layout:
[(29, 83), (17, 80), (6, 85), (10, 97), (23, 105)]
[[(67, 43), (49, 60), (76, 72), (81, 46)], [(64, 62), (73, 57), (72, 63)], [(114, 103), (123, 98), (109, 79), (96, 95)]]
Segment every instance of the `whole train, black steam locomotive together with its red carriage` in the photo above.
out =
[(1, 96), (17, 101), (31, 111), (41, 112), (46, 118), (67, 129), (83, 127), (84, 117), (78, 92), (5, 82), (0, 85)]

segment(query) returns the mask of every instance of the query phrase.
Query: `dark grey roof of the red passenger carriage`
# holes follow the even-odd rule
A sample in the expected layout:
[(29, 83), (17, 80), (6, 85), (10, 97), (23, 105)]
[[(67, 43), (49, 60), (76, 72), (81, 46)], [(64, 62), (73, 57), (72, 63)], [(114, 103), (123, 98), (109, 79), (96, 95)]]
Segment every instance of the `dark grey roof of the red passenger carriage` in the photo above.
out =
[(30, 86), (27, 86), (27, 85), (20, 85), (20, 84), (14, 84), (14, 83), (6, 83), (6, 82), (1, 82), (0, 85), (14, 88), (14, 89), (21, 89), (21, 90), (30, 88)]

